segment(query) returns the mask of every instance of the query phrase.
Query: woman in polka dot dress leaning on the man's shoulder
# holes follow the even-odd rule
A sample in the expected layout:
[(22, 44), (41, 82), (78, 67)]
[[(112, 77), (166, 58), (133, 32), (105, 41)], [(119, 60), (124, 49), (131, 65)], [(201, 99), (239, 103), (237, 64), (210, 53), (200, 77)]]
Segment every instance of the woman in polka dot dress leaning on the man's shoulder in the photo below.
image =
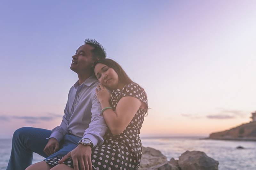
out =
[[(94, 73), (101, 83), (95, 90), (109, 129), (104, 143), (92, 148), (92, 169), (138, 169), (142, 151), (139, 134), (148, 111), (147, 95), (111, 59), (98, 61)], [(59, 163), (63, 161), (67, 169), (73, 168), (71, 158)]]

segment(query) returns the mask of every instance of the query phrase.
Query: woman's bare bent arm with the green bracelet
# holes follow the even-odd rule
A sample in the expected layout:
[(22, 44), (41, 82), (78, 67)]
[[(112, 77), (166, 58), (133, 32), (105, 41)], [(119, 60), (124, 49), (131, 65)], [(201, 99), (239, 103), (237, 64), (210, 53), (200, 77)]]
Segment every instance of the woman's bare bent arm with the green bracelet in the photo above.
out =
[[(100, 104), (102, 108), (110, 107), (108, 101), (102, 101)], [(128, 96), (119, 100), (116, 112), (112, 109), (103, 112), (103, 117), (113, 135), (118, 135), (124, 131), (141, 105), (142, 102), (139, 99)]]

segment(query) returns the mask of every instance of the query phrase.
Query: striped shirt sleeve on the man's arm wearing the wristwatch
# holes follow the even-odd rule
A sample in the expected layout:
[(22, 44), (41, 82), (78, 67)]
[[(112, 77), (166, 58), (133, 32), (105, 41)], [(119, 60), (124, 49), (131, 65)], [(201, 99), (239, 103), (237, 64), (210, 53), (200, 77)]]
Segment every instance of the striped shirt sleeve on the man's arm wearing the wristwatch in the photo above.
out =
[(92, 93), (92, 119), (89, 127), (84, 131), (82, 138), (89, 138), (92, 141), (93, 147), (103, 144), (103, 137), (108, 129), (104, 117), (101, 113), (100, 102), (97, 99), (96, 93)]

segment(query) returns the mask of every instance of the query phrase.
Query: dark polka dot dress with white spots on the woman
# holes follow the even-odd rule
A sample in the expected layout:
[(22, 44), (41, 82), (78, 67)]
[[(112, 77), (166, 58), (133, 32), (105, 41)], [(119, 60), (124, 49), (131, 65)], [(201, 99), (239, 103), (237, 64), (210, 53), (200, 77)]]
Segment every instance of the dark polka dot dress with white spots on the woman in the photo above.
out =
[[(140, 128), (144, 115), (148, 110), (148, 99), (143, 88), (136, 83), (125, 85), (123, 89), (112, 92), (110, 105), (116, 110), (116, 105), (122, 97), (132, 96), (145, 103), (146, 109), (138, 109), (132, 121), (119, 135), (113, 135), (108, 129), (101, 146), (92, 148), (92, 168), (97, 170), (128, 170), (138, 169), (140, 166), (142, 146), (140, 141)], [(55, 166), (62, 157), (45, 160), (49, 165)], [(64, 162), (73, 168), (72, 159)]]

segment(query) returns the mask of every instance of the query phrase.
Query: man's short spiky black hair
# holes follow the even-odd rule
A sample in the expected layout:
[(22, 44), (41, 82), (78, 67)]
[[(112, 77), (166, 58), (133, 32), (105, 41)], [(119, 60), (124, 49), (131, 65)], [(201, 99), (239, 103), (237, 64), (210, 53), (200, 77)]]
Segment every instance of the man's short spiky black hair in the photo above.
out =
[(104, 59), (107, 56), (107, 52), (105, 48), (95, 39), (85, 39), (84, 44), (88, 44), (92, 47), (94, 47), (91, 52), (92, 52), (92, 57), (93, 58), (99, 58), (99, 59)]

